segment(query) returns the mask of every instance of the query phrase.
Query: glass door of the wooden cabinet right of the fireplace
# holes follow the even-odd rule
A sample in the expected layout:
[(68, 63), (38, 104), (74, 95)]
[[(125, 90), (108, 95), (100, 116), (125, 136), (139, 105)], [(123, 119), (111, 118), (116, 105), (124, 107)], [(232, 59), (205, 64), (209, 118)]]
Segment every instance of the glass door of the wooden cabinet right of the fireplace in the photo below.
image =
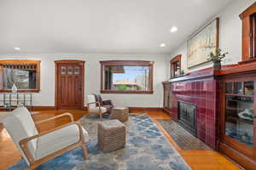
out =
[(254, 82), (225, 82), (224, 135), (254, 148)]

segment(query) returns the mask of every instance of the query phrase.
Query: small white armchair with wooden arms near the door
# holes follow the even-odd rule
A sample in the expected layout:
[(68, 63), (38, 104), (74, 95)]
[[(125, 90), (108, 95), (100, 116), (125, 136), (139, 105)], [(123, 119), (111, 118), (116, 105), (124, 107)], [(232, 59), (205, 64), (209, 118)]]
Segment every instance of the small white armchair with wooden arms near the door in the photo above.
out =
[(95, 95), (87, 96), (87, 109), (88, 114), (96, 113), (99, 114), (102, 119), (102, 113), (107, 112), (107, 108), (101, 106), (100, 102), (96, 102)]

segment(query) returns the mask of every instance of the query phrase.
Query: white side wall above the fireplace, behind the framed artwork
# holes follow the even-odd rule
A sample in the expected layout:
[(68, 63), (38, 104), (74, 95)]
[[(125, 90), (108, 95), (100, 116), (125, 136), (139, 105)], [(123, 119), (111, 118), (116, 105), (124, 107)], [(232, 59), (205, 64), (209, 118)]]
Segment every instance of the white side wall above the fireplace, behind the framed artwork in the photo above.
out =
[[(248, 8), (255, 0), (233, 0), (229, 5), (223, 8), (218, 14), (212, 16), (219, 17), (219, 48), (224, 52), (229, 52), (223, 61), (223, 65), (236, 64), (241, 61), (241, 20), (239, 14)], [(212, 20), (209, 19), (209, 20)], [(207, 24), (207, 23), (206, 23)], [(201, 26), (203, 27), (203, 26)], [(198, 28), (200, 30), (200, 28)], [(177, 32), (178, 33), (178, 32)], [(193, 35), (193, 34), (192, 34)], [(190, 36), (191, 37), (191, 36)], [(187, 40), (189, 37), (187, 38)], [(182, 70), (185, 72), (196, 71), (203, 68), (211, 67), (212, 63), (198, 65), (194, 68), (187, 68), (187, 41), (183, 42), (177, 50), (172, 53), (172, 57), (182, 54)], [(167, 59), (170, 61), (170, 58)], [(170, 68), (170, 65), (168, 65)], [(170, 76), (170, 70), (168, 71)]]

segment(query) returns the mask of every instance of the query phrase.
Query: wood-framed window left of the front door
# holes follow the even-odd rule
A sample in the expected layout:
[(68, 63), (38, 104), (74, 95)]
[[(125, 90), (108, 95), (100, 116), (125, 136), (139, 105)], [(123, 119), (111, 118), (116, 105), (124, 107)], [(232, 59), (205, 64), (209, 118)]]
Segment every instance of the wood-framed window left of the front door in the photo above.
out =
[(0, 91), (11, 92), (14, 83), (19, 92), (40, 90), (40, 61), (0, 60)]

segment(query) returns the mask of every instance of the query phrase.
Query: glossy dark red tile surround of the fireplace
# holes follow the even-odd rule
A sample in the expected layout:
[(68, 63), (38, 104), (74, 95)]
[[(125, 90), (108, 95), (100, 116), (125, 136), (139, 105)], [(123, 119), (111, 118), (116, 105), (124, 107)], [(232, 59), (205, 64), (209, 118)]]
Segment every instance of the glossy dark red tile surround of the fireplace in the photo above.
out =
[(213, 76), (172, 80), (172, 118), (177, 121), (177, 101), (196, 107), (196, 136), (216, 149), (218, 142), (218, 81)]

